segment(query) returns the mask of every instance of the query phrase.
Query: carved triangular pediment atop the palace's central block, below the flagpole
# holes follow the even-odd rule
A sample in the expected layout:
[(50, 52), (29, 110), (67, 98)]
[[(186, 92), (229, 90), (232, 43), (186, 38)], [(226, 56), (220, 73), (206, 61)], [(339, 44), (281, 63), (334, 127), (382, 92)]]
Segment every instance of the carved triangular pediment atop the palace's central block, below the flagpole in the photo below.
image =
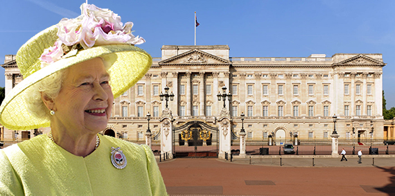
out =
[(198, 49), (193, 49), (191, 51), (187, 51), (180, 55), (176, 55), (174, 57), (170, 57), (166, 60), (162, 60), (158, 62), (159, 65), (196, 65), (196, 64), (205, 64), (205, 65), (226, 65), (231, 64), (229, 60), (225, 60), (216, 55), (211, 55), (210, 53), (206, 53), (200, 51)]

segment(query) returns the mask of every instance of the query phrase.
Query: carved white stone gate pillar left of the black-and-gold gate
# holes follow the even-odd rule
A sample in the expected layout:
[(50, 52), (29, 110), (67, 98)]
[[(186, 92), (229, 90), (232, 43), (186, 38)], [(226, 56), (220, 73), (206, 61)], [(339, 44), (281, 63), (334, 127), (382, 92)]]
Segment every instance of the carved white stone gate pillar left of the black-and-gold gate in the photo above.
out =
[[(173, 159), (173, 115), (170, 109), (166, 108), (161, 115), (161, 154), (168, 153), (168, 159)], [(167, 158), (166, 158), (167, 159)]]

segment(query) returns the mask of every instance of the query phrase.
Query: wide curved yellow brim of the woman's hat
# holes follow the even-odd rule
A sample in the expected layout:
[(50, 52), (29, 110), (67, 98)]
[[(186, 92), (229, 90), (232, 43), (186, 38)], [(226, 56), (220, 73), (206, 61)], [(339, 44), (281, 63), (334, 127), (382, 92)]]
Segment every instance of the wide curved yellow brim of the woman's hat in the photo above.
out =
[(109, 71), (114, 98), (136, 84), (152, 64), (152, 57), (146, 51), (130, 44), (95, 46), (79, 51), (75, 56), (59, 60), (35, 71), (17, 84), (1, 104), (0, 123), (12, 130), (49, 127), (49, 119), (37, 118), (28, 112), (25, 97), (29, 95), (26, 94), (26, 89), (57, 71), (96, 57), (103, 57), (109, 64), (112, 64)]

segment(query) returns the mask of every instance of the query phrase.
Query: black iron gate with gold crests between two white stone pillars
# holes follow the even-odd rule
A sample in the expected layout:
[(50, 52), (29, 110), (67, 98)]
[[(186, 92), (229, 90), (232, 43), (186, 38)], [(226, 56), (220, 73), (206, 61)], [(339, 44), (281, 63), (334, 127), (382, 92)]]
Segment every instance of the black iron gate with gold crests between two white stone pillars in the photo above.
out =
[(180, 157), (218, 157), (218, 127), (189, 121), (174, 127), (173, 150)]

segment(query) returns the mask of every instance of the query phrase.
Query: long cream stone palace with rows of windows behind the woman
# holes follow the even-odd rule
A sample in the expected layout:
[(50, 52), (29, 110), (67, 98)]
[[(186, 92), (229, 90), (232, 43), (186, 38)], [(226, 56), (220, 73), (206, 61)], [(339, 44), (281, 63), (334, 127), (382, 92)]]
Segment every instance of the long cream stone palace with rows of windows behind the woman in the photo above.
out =
[[(155, 142), (168, 105), (175, 127), (190, 121), (215, 127), (225, 107), (232, 136), (236, 139), (243, 125), (247, 141), (268, 137), (287, 141), (295, 136), (330, 140), (334, 128), (344, 140), (394, 138), (393, 130), (384, 129), (385, 63), (380, 53), (229, 57), (229, 49), (162, 46), (161, 57), (152, 58), (148, 73), (114, 99), (103, 134), (143, 143), (149, 129)], [(8, 93), (23, 79), (15, 55), (6, 55), (2, 66)], [(171, 99), (164, 100), (164, 95)], [(48, 128), (30, 132), (5, 128), (1, 139), (23, 140), (43, 132)]]

